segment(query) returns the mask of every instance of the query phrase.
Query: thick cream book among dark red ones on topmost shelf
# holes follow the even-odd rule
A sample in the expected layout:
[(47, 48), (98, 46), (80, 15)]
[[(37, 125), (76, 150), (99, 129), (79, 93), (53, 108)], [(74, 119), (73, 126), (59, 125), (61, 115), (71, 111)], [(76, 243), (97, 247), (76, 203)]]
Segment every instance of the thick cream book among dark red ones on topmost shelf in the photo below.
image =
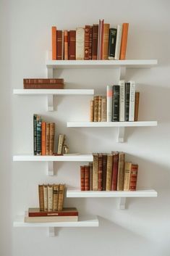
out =
[(76, 41), (75, 41), (75, 49), (76, 49), (76, 59), (84, 59), (85, 58), (85, 29), (77, 28), (76, 29)]

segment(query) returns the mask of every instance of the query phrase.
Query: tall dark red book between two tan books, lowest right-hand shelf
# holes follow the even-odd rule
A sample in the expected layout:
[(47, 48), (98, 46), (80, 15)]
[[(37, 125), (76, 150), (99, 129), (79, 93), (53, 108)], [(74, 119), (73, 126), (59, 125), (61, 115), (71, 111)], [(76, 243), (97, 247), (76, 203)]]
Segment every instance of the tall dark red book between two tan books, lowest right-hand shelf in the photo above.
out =
[(113, 168), (112, 168), (112, 180), (111, 190), (117, 190), (117, 174), (118, 174), (118, 163), (119, 163), (119, 152), (111, 152), (113, 154)]

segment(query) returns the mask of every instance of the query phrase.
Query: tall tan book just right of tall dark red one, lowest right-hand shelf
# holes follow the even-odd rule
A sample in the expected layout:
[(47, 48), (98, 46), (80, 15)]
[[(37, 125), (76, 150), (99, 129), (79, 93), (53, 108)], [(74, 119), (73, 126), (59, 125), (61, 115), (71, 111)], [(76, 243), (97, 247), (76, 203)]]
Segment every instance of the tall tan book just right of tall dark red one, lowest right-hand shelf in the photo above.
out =
[(117, 190), (124, 190), (124, 152), (119, 152), (119, 164), (117, 174)]

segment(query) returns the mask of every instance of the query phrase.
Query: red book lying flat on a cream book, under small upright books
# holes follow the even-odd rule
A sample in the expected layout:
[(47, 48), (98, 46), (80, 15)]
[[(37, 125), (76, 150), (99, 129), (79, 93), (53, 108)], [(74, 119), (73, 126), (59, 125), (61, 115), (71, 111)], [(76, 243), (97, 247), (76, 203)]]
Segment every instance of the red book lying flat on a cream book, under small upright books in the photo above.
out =
[(58, 211), (41, 211), (40, 208), (29, 208), (28, 217), (46, 217), (46, 216), (78, 216), (77, 208), (65, 207), (63, 210)]

